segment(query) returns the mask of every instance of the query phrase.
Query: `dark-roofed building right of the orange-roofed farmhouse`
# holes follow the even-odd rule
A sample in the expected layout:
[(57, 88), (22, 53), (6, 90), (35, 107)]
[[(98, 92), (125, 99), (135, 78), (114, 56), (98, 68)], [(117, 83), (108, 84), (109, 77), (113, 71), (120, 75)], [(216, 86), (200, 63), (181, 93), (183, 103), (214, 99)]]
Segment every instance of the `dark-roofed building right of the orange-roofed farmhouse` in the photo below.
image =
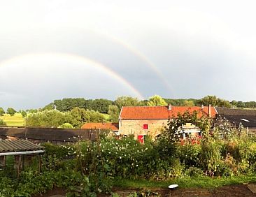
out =
[(218, 116), (227, 119), (234, 126), (238, 127), (243, 124), (243, 127), (248, 131), (256, 132), (256, 110), (232, 109), (216, 107)]

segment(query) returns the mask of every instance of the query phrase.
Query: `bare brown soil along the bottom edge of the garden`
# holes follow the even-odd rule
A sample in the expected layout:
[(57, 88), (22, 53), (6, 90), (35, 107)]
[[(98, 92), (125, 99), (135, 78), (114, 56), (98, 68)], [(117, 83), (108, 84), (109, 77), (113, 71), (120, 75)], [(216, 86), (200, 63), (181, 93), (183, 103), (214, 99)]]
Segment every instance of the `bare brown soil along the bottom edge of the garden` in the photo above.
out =
[[(129, 196), (129, 194), (133, 194), (138, 190), (136, 189), (122, 189), (120, 188), (114, 188), (113, 192), (119, 194), (121, 197)], [(148, 191), (148, 189), (145, 190), (140, 190), (140, 191)], [(217, 197), (241, 197), (241, 196), (246, 196), (246, 197), (255, 197), (256, 194), (253, 193), (253, 191), (250, 191), (248, 189), (247, 184), (239, 184), (239, 185), (232, 185), (232, 186), (225, 186), (225, 187), (220, 187), (217, 189), (150, 189), (151, 195), (150, 196), (183, 196), (183, 197), (193, 197), (193, 196), (217, 196)], [(42, 195), (37, 195), (33, 197), (62, 197), (65, 196), (65, 190), (61, 188), (55, 188), (52, 189), (51, 191), (48, 191), (45, 194)], [(100, 195), (100, 196), (108, 196), (108, 195)], [(146, 195), (145, 195), (146, 196)]]

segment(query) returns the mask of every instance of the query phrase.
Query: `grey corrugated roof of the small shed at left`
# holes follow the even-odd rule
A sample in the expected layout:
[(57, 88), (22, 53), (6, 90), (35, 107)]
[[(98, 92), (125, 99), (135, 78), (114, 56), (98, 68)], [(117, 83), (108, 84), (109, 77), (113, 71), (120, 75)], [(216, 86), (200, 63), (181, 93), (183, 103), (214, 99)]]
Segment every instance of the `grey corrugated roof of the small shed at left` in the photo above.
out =
[(3, 152), (27, 152), (43, 150), (44, 147), (35, 145), (29, 140), (1, 140), (0, 139), (0, 153)]

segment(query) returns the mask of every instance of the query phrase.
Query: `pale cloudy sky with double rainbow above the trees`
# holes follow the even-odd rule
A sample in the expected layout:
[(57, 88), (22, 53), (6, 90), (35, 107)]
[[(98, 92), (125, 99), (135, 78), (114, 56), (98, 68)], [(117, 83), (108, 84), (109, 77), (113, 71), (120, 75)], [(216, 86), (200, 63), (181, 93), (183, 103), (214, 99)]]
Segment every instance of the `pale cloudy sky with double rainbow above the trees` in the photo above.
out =
[(0, 0), (0, 107), (256, 101), (255, 1)]

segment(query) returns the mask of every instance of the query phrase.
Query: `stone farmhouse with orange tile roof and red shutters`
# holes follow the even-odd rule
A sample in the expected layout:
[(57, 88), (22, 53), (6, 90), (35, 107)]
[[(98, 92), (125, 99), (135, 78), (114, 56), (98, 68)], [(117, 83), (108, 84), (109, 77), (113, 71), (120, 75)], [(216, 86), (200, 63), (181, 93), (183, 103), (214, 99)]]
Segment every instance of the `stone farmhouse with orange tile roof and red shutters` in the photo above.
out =
[[(164, 126), (167, 126), (168, 119), (178, 117), (178, 114), (184, 112), (198, 112), (198, 116), (206, 115), (215, 117), (216, 110), (211, 106), (187, 107), (187, 106), (125, 106), (122, 107), (119, 117), (120, 135), (134, 135), (134, 138), (140, 140), (143, 136), (155, 138), (162, 133)], [(187, 132), (199, 132), (191, 124), (184, 125)]]

